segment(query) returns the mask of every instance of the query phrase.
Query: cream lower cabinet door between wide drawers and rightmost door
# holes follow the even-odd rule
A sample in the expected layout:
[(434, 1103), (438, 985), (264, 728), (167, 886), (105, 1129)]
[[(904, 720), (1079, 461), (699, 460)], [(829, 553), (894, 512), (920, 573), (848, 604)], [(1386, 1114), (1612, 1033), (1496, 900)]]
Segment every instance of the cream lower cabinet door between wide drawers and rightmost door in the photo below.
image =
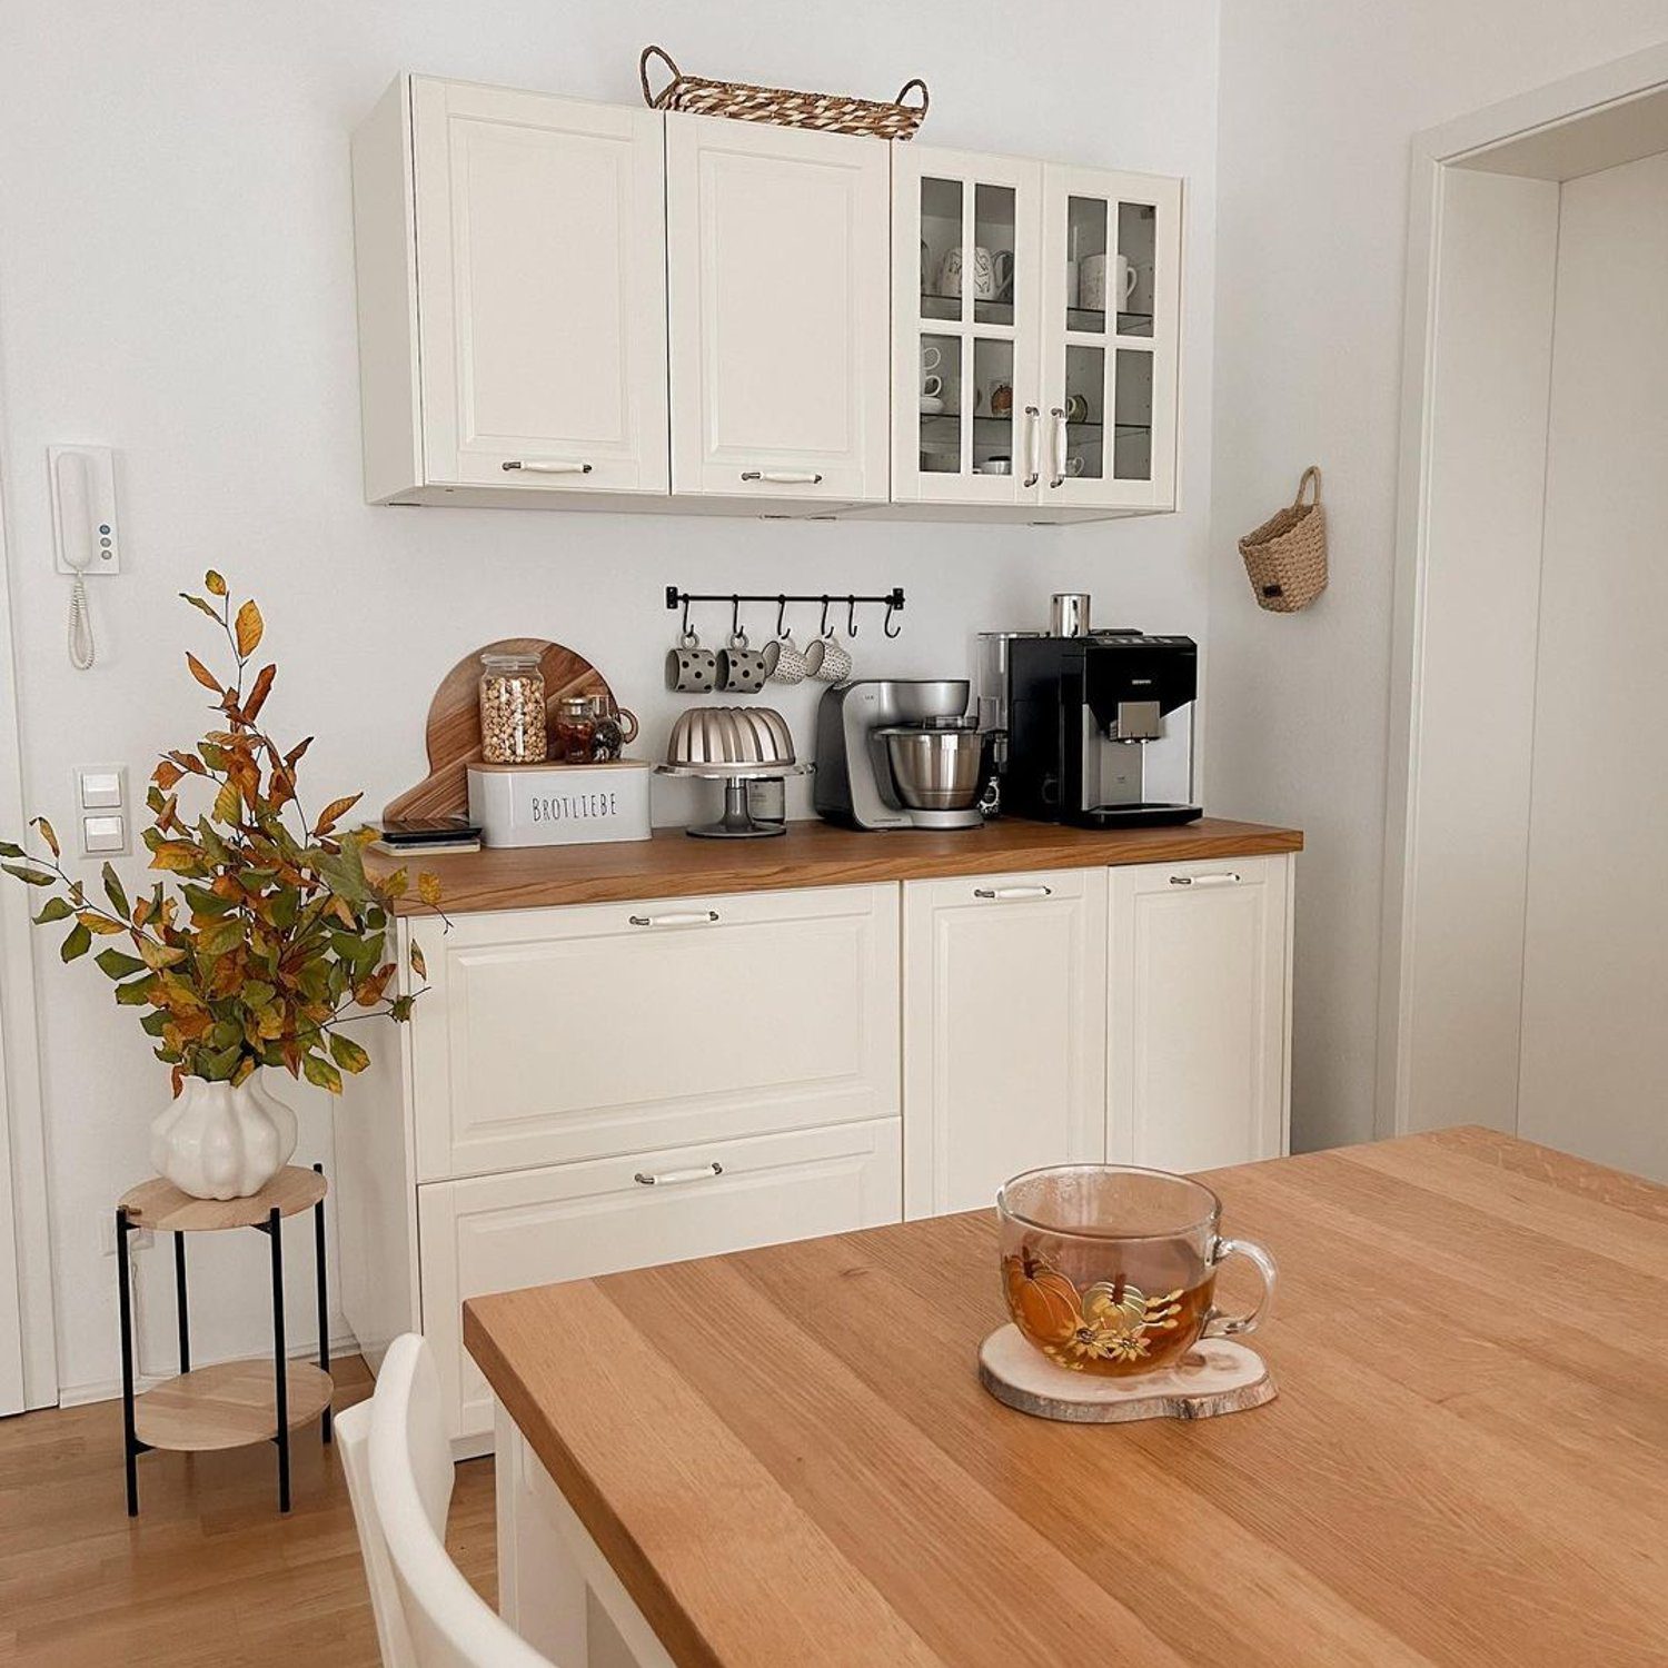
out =
[(1106, 871), (904, 882), (904, 1214), (1104, 1151)]

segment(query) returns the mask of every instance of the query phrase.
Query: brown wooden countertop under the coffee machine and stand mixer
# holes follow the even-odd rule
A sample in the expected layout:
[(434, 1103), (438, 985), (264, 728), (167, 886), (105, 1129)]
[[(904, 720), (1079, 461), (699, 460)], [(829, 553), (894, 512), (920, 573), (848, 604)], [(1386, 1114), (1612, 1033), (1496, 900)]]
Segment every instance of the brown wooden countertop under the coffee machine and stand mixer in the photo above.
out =
[[(691, 839), (659, 829), (654, 839), (604, 846), (522, 846), (514, 851), (389, 857), (367, 852), (367, 867), (430, 869), (440, 877), (447, 914), (477, 909), (542, 909), (605, 904), (629, 897), (692, 897), (784, 886), (859, 886), (949, 874), (1014, 869), (1099, 869), (1126, 862), (1186, 862), (1301, 851), (1296, 829), (1204, 817), (1181, 827), (1068, 829), (1056, 822), (999, 817), (982, 829), (864, 834), (831, 822), (791, 822), (779, 839)], [(404, 902), (404, 912), (420, 906)]]

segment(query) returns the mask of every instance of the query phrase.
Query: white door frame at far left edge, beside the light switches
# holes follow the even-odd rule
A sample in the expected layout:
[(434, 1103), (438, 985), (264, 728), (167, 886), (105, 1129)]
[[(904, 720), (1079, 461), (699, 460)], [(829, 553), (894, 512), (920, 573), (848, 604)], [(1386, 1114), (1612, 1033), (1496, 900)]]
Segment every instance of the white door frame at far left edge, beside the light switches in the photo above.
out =
[[(0, 365), (0, 440), (8, 434)], [(0, 827), (23, 827), (23, 759), (13, 646), (10, 499), (0, 445)], [(35, 1016), (35, 961), (27, 889), (0, 889), (0, 1188), (12, 1204), (10, 1248), (0, 1248), (0, 1413), (58, 1401), (52, 1238), (47, 1206), (47, 1121)], [(10, 1249), (10, 1256), (7, 1256)], [(15, 1266), (15, 1279), (7, 1264)], [(13, 1298), (15, 1293), (15, 1311)], [(15, 1313), (15, 1333), (12, 1338)], [(15, 1349), (15, 1354), (13, 1354)], [(13, 1361), (20, 1371), (12, 1371)], [(22, 1401), (15, 1388), (22, 1386)]]

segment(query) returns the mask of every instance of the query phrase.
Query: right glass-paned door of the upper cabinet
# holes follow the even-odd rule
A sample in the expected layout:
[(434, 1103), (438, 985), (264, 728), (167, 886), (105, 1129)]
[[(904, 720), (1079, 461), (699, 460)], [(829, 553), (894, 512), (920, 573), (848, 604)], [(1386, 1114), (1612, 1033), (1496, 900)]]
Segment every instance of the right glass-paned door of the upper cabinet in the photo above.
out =
[(1179, 180), (1044, 168), (1044, 509), (1174, 509), (1179, 254)]

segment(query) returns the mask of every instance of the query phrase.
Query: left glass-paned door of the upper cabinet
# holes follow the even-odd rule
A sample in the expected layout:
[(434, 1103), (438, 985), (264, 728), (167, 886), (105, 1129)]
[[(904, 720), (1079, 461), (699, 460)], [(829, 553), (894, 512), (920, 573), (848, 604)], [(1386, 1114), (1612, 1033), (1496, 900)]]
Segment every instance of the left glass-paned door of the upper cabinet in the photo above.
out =
[(892, 497), (1036, 502), (1042, 167), (892, 158)]

